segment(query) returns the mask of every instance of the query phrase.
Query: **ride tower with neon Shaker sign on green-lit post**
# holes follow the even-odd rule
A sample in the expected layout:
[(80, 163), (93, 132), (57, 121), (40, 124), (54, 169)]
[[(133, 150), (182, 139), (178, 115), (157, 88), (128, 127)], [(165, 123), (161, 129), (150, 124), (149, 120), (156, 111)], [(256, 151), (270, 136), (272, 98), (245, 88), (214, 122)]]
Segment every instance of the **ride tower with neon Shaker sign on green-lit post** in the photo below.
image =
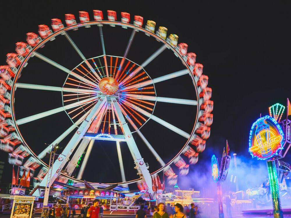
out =
[(274, 217), (282, 218), (278, 176), (275, 162), (284, 158), (290, 148), (291, 105), (287, 99), (287, 117), (281, 121), (285, 106), (276, 103), (269, 107), (269, 115), (260, 117), (253, 123), (249, 136), (249, 152), (258, 160), (266, 160), (270, 181)]

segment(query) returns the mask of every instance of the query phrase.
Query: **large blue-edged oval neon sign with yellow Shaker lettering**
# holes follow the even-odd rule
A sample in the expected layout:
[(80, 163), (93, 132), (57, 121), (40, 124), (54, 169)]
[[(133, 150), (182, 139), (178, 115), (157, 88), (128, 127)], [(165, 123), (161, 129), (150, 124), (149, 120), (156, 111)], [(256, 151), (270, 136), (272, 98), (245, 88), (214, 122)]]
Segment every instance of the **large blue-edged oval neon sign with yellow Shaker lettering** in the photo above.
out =
[(284, 134), (276, 119), (265, 116), (257, 119), (249, 136), (249, 152), (258, 160), (266, 160), (278, 155), (283, 149)]

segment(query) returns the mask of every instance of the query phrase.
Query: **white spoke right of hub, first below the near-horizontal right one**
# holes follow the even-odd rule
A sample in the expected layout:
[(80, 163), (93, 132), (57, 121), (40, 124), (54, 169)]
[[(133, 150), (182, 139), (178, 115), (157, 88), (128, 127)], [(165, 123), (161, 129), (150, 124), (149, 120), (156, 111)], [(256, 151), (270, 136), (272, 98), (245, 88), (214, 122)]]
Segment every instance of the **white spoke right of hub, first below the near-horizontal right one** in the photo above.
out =
[(146, 112), (145, 110), (139, 108), (138, 106), (135, 106), (134, 104), (128, 102), (128, 101), (123, 101), (123, 103), (127, 104), (129, 107), (137, 110), (138, 112), (142, 113), (143, 115), (151, 118), (152, 120), (156, 121), (157, 123), (167, 127), (168, 129), (174, 131), (175, 133), (178, 133), (179, 135), (182, 135), (185, 138), (189, 138), (190, 134), (186, 133), (185, 131), (179, 129), (176, 126), (173, 126), (172, 124), (169, 124), (168, 122), (160, 119), (159, 117), (156, 117), (155, 115), (150, 114), (149, 112)]

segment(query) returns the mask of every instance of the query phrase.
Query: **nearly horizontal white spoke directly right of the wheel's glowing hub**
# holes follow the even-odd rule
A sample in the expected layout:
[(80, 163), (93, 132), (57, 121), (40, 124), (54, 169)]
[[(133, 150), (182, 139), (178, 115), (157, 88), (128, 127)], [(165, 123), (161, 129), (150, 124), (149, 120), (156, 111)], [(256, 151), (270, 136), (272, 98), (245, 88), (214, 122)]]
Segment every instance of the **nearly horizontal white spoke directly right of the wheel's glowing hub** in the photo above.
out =
[(150, 100), (150, 101), (175, 103), (175, 104), (197, 105), (197, 101), (189, 100), (189, 99), (175, 99), (175, 98), (155, 97), (155, 96), (136, 95), (136, 94), (126, 94), (126, 97), (134, 98), (134, 99)]

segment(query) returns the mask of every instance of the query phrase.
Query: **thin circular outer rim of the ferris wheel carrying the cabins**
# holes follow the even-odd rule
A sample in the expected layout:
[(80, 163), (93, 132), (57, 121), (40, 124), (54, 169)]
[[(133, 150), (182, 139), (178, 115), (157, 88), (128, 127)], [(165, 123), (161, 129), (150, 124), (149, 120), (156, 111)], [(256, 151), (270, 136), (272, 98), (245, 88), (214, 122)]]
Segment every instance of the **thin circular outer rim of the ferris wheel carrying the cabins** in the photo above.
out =
[[(187, 64), (187, 62), (183, 59), (183, 57), (180, 55), (179, 52), (177, 52), (175, 50), (175, 48), (173, 48), (171, 46), (171, 44), (169, 44), (166, 40), (160, 38), (159, 36), (157, 36), (155, 33), (152, 33), (150, 31), (147, 31), (146, 29), (144, 28), (141, 28), (141, 27), (138, 27), (138, 26), (134, 26), (133, 24), (128, 24), (128, 23), (123, 23), (123, 22), (118, 22), (118, 21), (90, 21), (90, 22), (84, 22), (84, 23), (79, 23), (79, 24), (74, 24), (72, 26), (68, 26), (68, 27), (65, 27), (59, 31), (56, 31), (54, 33), (52, 33), (51, 35), (49, 35), (48, 37), (42, 39), (40, 42), (38, 42), (38, 44), (36, 44), (35, 47), (33, 47), (31, 49), (31, 51), (25, 56), (25, 58), (23, 59), (23, 61), (21, 62), (21, 64), (19, 65), (19, 67), (17, 68), (17, 72), (15, 73), (15, 77), (13, 78), (13, 83), (12, 83), (12, 86), (11, 86), (11, 96), (10, 96), (10, 109), (11, 109), (11, 118), (12, 118), (12, 121), (13, 121), (13, 124), (15, 125), (15, 130), (17, 132), (17, 134), (19, 134), (21, 140), (22, 140), (22, 144), (27, 148), (29, 149), (29, 151), (31, 152), (30, 154), (36, 158), (40, 164), (42, 164), (42, 166), (48, 168), (48, 165), (42, 161), (40, 158), (38, 158), (38, 156), (33, 152), (33, 150), (30, 148), (30, 146), (26, 143), (26, 141), (24, 140), (24, 137), (22, 136), (20, 130), (19, 130), (19, 127), (18, 125), (16, 124), (16, 119), (15, 119), (15, 108), (14, 108), (14, 95), (15, 95), (15, 84), (16, 84), (16, 81), (19, 77), (19, 74), (22, 72), (23, 68), (24, 68), (24, 64), (26, 62), (28, 62), (28, 60), (33, 56), (33, 53), (36, 52), (40, 47), (42, 47), (42, 45), (44, 45), (45, 43), (47, 43), (51, 38), (57, 36), (57, 35), (60, 35), (62, 32), (67, 32), (68, 30), (72, 30), (76, 27), (80, 27), (80, 26), (88, 26), (88, 25), (98, 25), (98, 24), (106, 24), (106, 25), (110, 25), (110, 24), (114, 24), (114, 25), (117, 25), (117, 26), (127, 26), (129, 28), (132, 28), (132, 29), (137, 29), (143, 33), (147, 33), (149, 34), (150, 36), (154, 37), (156, 40), (162, 42), (164, 45), (167, 46), (168, 49), (171, 49), (175, 55), (182, 61), (182, 63), (184, 64), (184, 66), (186, 67), (186, 69), (188, 70), (188, 74), (190, 75), (191, 79), (192, 79), (192, 83), (194, 85), (194, 88), (195, 88), (195, 92), (196, 92), (196, 99), (197, 99), (197, 110), (196, 110), (196, 118), (195, 118), (195, 122), (194, 122), (194, 126), (193, 126), (193, 129), (191, 131), (191, 134), (189, 134), (189, 138), (187, 139), (186, 143), (184, 144), (184, 146), (182, 147), (182, 149), (174, 156), (174, 158), (172, 160), (170, 160), (168, 163), (166, 163), (164, 166), (160, 167), (159, 169), (157, 169), (156, 171), (150, 173), (151, 175), (152, 174), (157, 174), (161, 171), (163, 171), (166, 167), (168, 167), (169, 165), (171, 165), (175, 158), (177, 158), (178, 156), (180, 156), (184, 149), (187, 147), (187, 145), (189, 145), (189, 141), (191, 139), (191, 137), (195, 134), (195, 127), (197, 126), (198, 124), (198, 115), (199, 115), (199, 112), (200, 112), (200, 106), (201, 106), (201, 102), (200, 102), (200, 97), (199, 97), (199, 94), (198, 94), (198, 86), (195, 82), (195, 79), (194, 79), (194, 76), (192, 75), (191, 73), (191, 70), (190, 70), (190, 67), (189, 65)], [(155, 83), (153, 83), (155, 84)], [(202, 98), (203, 99), (203, 98)], [(156, 102), (156, 101), (155, 101)], [(149, 118), (150, 119), (150, 118)], [(148, 119), (148, 120), (149, 120)], [(67, 178), (72, 178), (73, 180), (77, 180), (76, 178), (73, 178), (73, 177), (70, 177), (70, 176), (66, 176), (66, 175), (63, 175), (61, 174), (62, 176), (65, 176)], [(141, 181), (142, 179), (141, 178), (137, 178), (137, 179), (134, 179), (132, 181), (126, 181), (126, 182), (121, 182), (121, 183), (108, 183), (108, 184), (128, 184), (129, 182), (130, 183), (134, 183), (134, 182), (138, 182), (138, 181)], [(79, 180), (81, 181), (81, 180)]]

